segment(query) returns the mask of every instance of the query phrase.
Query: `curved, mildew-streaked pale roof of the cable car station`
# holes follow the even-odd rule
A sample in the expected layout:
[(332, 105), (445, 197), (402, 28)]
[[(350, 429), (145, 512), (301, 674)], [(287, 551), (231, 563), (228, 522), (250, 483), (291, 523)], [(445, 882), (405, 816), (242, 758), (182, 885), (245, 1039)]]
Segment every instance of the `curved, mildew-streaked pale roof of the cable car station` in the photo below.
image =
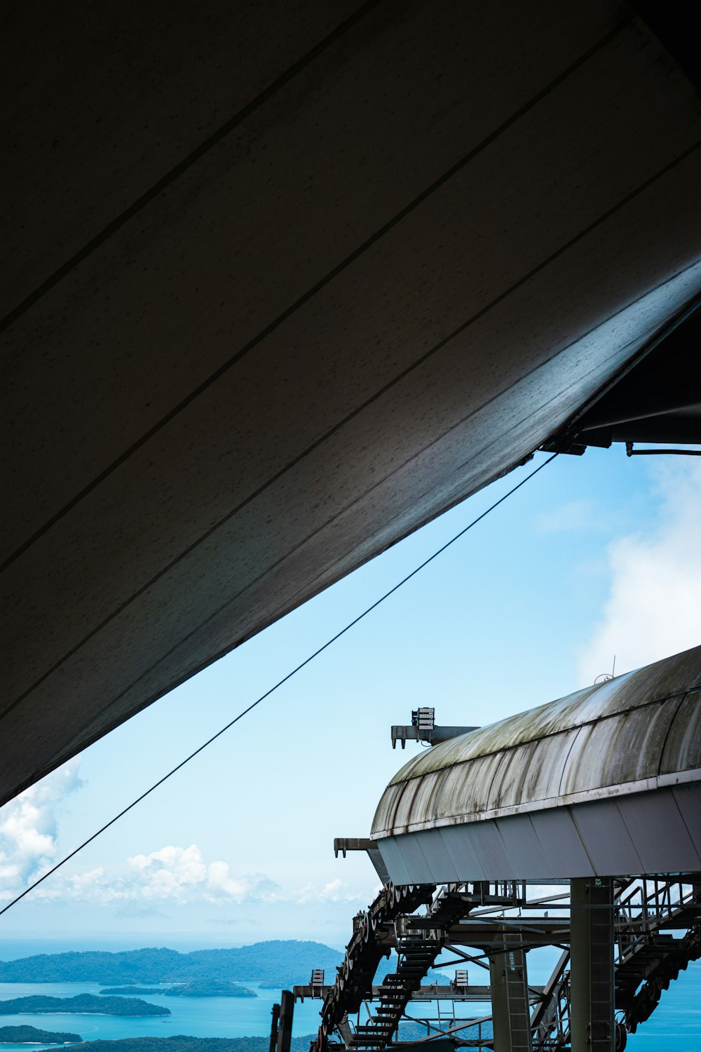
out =
[(378, 839), (701, 781), (701, 647), (435, 746), (385, 790)]

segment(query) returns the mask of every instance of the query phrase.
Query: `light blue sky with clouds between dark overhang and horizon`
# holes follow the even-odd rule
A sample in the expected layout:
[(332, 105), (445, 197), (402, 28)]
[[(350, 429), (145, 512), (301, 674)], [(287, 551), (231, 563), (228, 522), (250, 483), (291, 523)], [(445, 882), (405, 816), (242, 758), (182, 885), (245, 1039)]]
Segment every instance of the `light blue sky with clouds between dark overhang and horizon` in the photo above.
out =
[[(479, 514), (525, 468), (417, 531), (0, 810), (6, 899)], [(559, 457), (2, 918), (5, 937), (342, 945), (377, 879), (366, 835), (432, 705), (483, 725), (701, 638), (701, 465)], [(57, 948), (59, 948), (57, 942)]]

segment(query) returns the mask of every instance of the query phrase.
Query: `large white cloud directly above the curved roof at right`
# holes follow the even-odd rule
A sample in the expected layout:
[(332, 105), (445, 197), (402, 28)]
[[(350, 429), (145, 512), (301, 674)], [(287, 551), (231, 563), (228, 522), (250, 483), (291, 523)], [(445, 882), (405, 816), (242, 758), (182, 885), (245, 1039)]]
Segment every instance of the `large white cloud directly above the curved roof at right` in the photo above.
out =
[(603, 615), (581, 649), (580, 680), (624, 672), (701, 643), (701, 464), (653, 469), (659, 522), (609, 548)]

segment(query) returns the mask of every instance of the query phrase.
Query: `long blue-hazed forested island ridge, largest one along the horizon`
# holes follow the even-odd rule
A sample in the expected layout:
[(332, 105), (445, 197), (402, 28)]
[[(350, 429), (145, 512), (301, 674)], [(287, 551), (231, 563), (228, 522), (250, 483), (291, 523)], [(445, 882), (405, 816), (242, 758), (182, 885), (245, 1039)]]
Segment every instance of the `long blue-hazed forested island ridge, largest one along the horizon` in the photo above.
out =
[(0, 983), (99, 983), (102, 986), (248, 979), (288, 987), (312, 968), (335, 976), (343, 954), (322, 943), (275, 939), (230, 950), (178, 953), (165, 948), (107, 953), (50, 953), (0, 962)]

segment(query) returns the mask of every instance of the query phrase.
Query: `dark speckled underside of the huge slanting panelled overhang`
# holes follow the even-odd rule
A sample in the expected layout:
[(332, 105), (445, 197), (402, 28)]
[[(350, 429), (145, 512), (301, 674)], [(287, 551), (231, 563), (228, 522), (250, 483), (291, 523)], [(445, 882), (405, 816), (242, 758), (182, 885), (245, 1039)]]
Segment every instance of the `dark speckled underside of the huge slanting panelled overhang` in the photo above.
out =
[(701, 290), (698, 98), (625, 5), (9, 13), (0, 801)]

